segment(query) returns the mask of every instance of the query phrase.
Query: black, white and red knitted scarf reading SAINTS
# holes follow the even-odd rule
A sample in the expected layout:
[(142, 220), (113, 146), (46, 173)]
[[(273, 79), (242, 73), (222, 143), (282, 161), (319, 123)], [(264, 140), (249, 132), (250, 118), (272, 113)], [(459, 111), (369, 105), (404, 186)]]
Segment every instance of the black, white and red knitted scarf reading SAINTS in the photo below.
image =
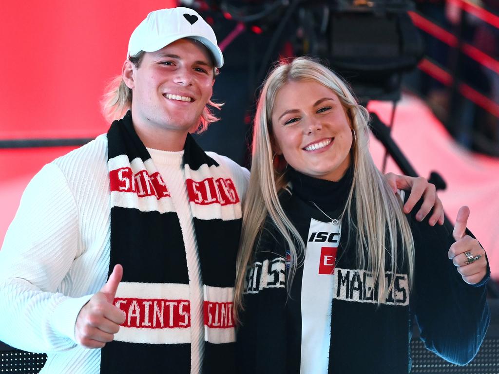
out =
[[(112, 123), (107, 138), (109, 272), (123, 265), (114, 304), (126, 320), (102, 349), (101, 373), (190, 373), (189, 275), (179, 217), (130, 112)], [(190, 135), (183, 168), (204, 292), (203, 373), (234, 373), (232, 305), (241, 203), (231, 176)]]

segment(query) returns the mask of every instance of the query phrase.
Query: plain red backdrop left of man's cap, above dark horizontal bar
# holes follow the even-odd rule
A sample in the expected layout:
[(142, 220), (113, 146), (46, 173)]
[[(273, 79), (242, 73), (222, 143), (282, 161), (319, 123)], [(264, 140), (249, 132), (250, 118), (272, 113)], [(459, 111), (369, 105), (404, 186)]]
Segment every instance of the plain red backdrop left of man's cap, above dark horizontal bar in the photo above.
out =
[(3, 1), (0, 140), (105, 132), (99, 101), (121, 72), (130, 34), (148, 12), (175, 3)]

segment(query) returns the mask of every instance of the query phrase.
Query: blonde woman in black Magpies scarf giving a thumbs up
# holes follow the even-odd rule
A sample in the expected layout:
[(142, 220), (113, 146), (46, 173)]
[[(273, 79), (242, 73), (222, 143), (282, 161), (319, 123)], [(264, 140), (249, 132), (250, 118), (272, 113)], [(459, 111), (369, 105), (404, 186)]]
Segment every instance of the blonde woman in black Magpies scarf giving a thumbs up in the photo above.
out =
[(367, 111), (325, 66), (300, 57), (267, 77), (238, 265), (241, 372), (408, 373), (413, 323), (450, 362), (477, 353), (490, 271), (469, 209), (453, 233), (406, 216), (367, 143)]

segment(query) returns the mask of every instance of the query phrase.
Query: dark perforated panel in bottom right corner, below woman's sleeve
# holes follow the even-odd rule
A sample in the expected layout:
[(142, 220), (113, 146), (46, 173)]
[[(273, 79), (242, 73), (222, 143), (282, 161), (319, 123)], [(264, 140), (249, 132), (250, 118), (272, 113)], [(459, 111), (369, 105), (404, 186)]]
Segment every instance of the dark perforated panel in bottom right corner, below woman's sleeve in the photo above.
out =
[(413, 339), (411, 342), (411, 374), (498, 374), (499, 340), (486, 338), (480, 352), (466, 366), (449, 364), (433, 352), (428, 351), (423, 342)]

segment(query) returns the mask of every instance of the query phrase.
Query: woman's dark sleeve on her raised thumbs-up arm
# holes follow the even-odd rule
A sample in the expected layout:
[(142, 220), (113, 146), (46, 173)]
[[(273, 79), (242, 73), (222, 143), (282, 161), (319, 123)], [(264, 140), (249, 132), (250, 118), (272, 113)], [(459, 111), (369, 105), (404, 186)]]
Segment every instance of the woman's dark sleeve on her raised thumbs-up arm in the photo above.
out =
[[(430, 226), (428, 219), (416, 221), (419, 206), (408, 215), (416, 252), (411, 305), (426, 348), (465, 365), (477, 354), (490, 323), (486, 289), (490, 268), (479, 284), (467, 284), (448, 257), (455, 242), (452, 232), (445, 225)], [(468, 229), (467, 234), (473, 236)]]

